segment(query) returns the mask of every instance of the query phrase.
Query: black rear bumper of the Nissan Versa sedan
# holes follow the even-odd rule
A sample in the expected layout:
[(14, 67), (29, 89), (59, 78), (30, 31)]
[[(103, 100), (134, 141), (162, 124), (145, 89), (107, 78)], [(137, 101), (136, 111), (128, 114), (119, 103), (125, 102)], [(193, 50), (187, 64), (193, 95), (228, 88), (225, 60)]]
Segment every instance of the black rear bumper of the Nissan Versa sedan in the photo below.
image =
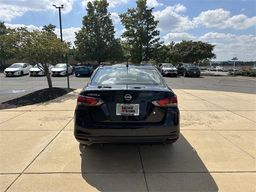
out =
[(173, 137), (177, 140), (180, 136), (180, 113), (178, 108), (169, 110), (165, 121), (157, 124), (120, 122), (97, 125), (92, 124), (86, 115), (81, 117), (79, 110), (76, 110), (74, 136), (78, 142), (88, 145), (105, 142), (166, 142)]

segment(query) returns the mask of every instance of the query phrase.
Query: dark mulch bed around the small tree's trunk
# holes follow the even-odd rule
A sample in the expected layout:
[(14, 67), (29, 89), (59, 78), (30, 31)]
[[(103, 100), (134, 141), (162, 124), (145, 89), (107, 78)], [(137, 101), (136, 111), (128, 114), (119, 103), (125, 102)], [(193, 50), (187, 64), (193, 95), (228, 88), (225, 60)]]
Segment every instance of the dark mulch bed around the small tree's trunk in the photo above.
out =
[(58, 88), (58, 87), (54, 87), (52, 89), (49, 89), (49, 88), (41, 89), (32, 93), (26, 94), (24, 96), (0, 103), (0, 110), (17, 108), (17, 107), (46, 102), (52, 99), (56, 99), (73, 90), (75, 89)]

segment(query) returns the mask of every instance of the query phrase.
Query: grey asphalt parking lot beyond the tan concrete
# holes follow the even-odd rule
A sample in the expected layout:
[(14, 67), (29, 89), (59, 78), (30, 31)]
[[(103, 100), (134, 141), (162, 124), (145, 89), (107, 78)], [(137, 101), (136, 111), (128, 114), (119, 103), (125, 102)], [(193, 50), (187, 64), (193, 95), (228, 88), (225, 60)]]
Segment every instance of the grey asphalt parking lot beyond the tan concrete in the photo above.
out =
[[(222, 73), (222, 72), (220, 72)], [(83, 88), (89, 80), (88, 76), (69, 76), (70, 88)], [(238, 93), (256, 94), (256, 80), (239, 77), (165, 77), (168, 86), (172, 89), (216, 90)], [(52, 77), (54, 87), (67, 87), (67, 77)], [(20, 97), (30, 92), (48, 88), (45, 76), (10, 76), (0, 73), (0, 102)]]

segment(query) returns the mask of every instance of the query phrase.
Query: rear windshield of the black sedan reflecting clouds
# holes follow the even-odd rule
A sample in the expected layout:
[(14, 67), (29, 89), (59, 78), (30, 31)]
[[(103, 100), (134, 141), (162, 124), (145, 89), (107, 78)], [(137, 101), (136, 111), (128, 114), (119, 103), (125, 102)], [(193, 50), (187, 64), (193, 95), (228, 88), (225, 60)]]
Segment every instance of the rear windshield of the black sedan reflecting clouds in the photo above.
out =
[(161, 86), (163, 81), (154, 69), (109, 68), (99, 69), (92, 79), (92, 85), (139, 84)]

